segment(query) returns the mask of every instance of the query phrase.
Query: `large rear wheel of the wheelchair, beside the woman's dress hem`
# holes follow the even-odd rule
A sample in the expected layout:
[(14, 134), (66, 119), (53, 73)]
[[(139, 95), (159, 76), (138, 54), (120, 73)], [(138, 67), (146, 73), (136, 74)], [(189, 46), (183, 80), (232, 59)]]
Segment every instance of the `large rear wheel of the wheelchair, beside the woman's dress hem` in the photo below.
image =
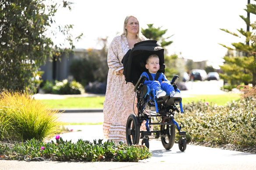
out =
[(130, 114), (126, 123), (126, 142), (128, 145), (139, 144), (139, 121), (135, 114)]

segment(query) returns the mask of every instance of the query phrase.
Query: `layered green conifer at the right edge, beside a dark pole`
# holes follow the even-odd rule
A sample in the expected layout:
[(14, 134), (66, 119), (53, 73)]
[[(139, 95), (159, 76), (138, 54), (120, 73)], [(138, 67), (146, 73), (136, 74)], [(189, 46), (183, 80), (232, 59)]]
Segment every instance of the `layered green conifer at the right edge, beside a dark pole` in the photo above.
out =
[[(255, 1), (255, 0), (254, 0)], [(256, 5), (251, 4), (250, 0), (248, 0), (248, 4), (246, 5), (245, 11), (247, 12), (247, 17), (240, 15), (243, 21), (246, 24), (246, 31), (243, 28), (237, 29), (238, 32), (245, 37), (245, 39), (251, 37), (252, 32), (249, 31), (250, 27), (250, 14), (256, 14)], [(228, 31), (227, 29), (221, 29), (231, 35), (240, 37), (240, 35)], [(255, 58), (253, 52), (256, 50), (255, 43), (249, 44), (249, 41), (231, 43), (234, 48), (228, 47), (226, 45), (220, 44), (227, 48), (228, 50), (233, 50), (235, 52), (235, 56), (224, 56), (224, 65), (220, 66), (223, 70), (224, 74), (220, 74), (220, 77), (228, 80), (231, 85), (238, 85), (243, 82), (248, 84), (252, 82), (253, 86), (256, 85), (256, 65), (253, 62)]]

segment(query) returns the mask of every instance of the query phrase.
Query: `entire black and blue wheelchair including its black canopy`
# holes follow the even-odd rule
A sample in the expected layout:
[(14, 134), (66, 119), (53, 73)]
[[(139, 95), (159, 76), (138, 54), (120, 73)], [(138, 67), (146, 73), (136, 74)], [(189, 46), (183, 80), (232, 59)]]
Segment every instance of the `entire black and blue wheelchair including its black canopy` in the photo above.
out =
[[(182, 98), (170, 97), (170, 95), (156, 98), (155, 90), (143, 85), (146, 76), (140, 76), (146, 71), (146, 58), (156, 54), (160, 59), (159, 72), (164, 73), (164, 49), (156, 43), (156, 40), (147, 40), (136, 43), (122, 59), (124, 64), (124, 76), (126, 82), (131, 82), (135, 86), (134, 92), (137, 97), (137, 115), (130, 114), (126, 123), (126, 141), (128, 145), (139, 144), (142, 139), (142, 145), (145, 144), (149, 148), (149, 139), (161, 139), (162, 145), (169, 150), (174, 145), (176, 128), (181, 136), (178, 141), (180, 151), (184, 152), (187, 146), (186, 132), (181, 131), (184, 125), (180, 125), (174, 120), (175, 112), (183, 113)], [(179, 76), (174, 76), (171, 84), (174, 90), (180, 93), (176, 83)], [(180, 106), (180, 111), (177, 106)], [(133, 107), (133, 106), (131, 106)], [(156, 120), (153, 122), (153, 119)], [(146, 121), (146, 123), (144, 123)], [(142, 125), (146, 126), (146, 130), (140, 131)], [(160, 125), (160, 130), (152, 130), (153, 126)]]

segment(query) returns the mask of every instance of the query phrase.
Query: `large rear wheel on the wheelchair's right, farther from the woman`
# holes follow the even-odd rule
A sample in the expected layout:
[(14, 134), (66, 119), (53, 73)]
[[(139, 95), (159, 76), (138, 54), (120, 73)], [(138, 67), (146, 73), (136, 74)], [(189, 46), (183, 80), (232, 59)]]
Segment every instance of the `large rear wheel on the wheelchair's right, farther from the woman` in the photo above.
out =
[[(164, 127), (163, 127), (164, 126)], [(167, 126), (167, 127), (166, 127)], [(169, 150), (172, 148), (175, 139), (175, 126), (172, 125), (171, 127), (168, 125), (161, 125), (160, 129), (164, 132), (167, 132), (165, 136), (161, 136), (161, 141), (165, 149)]]

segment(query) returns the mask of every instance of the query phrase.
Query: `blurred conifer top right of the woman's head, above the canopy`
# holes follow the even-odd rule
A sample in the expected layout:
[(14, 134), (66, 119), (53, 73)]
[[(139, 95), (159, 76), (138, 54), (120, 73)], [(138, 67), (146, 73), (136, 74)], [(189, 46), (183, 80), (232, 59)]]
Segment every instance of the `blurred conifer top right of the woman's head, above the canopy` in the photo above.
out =
[(159, 41), (158, 43), (160, 43), (163, 48), (173, 43), (173, 41), (166, 41), (168, 38), (171, 38), (173, 35), (167, 38), (163, 37), (163, 35), (167, 32), (167, 29), (161, 30), (161, 27), (154, 28), (153, 24), (147, 24), (147, 26), (148, 28), (146, 29), (141, 28), (141, 32), (143, 35), (145, 35), (146, 38), (151, 40), (156, 40), (157, 42)]

